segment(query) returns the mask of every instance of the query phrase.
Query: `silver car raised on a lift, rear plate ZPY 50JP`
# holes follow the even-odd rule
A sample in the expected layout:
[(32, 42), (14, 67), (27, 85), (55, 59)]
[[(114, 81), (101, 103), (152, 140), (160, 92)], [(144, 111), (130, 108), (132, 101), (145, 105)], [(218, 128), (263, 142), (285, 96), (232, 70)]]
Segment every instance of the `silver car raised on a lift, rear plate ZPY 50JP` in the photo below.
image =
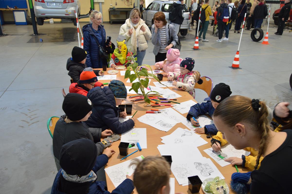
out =
[(46, 19), (72, 20), (77, 25), (74, 10), (80, 15), (80, 3), (78, 0), (34, 0), (34, 14), (36, 23), (43, 25)]

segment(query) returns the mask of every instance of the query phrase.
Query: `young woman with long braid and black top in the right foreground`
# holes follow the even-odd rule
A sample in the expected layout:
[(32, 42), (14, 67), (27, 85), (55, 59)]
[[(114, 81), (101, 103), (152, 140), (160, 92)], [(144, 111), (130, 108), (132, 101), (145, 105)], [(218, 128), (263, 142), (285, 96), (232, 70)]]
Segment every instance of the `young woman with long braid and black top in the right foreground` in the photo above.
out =
[[(213, 121), (234, 148), (258, 150), (251, 194), (291, 193), (292, 130), (272, 131), (267, 115), (265, 102), (234, 95), (217, 106)], [(258, 168), (261, 156), (264, 158)]]

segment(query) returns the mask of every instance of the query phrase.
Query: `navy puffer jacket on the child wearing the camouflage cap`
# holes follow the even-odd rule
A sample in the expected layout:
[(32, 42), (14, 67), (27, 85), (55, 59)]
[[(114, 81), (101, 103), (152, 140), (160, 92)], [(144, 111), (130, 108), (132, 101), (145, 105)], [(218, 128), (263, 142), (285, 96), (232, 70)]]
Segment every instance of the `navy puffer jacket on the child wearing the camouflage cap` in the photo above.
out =
[(105, 86), (104, 88), (95, 87), (89, 90), (87, 97), (93, 103), (92, 114), (86, 121), (89, 127), (99, 126), (102, 131), (111, 129), (117, 134), (124, 133), (132, 129), (135, 125), (132, 119), (123, 123), (119, 122), (119, 108), (116, 107), (114, 94)]

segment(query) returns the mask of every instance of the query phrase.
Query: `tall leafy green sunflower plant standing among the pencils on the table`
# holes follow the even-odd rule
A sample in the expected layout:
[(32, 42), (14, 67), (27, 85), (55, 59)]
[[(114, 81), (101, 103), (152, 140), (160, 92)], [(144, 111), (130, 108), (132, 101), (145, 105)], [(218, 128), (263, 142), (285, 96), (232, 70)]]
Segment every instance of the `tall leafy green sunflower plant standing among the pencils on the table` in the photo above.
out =
[[(126, 51), (125, 55), (127, 55), (127, 53), (128, 53), (128, 51)], [(127, 67), (127, 70), (126, 70), (126, 73), (125, 73), (125, 79), (129, 78), (130, 82), (132, 83), (132, 87), (131, 87), (130, 91), (134, 90), (136, 93), (138, 93), (138, 90), (140, 89), (141, 92), (142, 92), (142, 95), (144, 96), (144, 101), (146, 103), (150, 104), (150, 99), (148, 98), (147, 94), (150, 93), (150, 92), (153, 93), (155, 91), (150, 91), (150, 92), (147, 92), (147, 93), (144, 91), (144, 88), (148, 88), (148, 86), (149, 86), (149, 78), (148, 78), (148, 76), (152, 76), (159, 83), (161, 83), (161, 82), (159, 81), (159, 79), (157, 78), (156, 75), (149, 73), (146, 68), (142, 68), (139, 71), (138, 68), (137, 68), (138, 67), (138, 63), (136, 62), (137, 61), (137, 57), (134, 57), (131, 52), (129, 52), (129, 53), (130, 53), (131, 56), (128, 56), (126, 58), (126, 60), (133, 61), (133, 63), (129, 64), (129, 66)], [(152, 72), (152, 68), (149, 65), (145, 65), (144, 64), (142, 66), (148, 67), (149, 69), (151, 69), (151, 72)], [(133, 71), (135, 74), (131, 74), (131, 71)], [(141, 77), (145, 77), (145, 78), (141, 78)], [(138, 78), (138, 82), (133, 83), (133, 81), (135, 79), (137, 79), (137, 78)], [(155, 92), (155, 93), (158, 93), (158, 92)]]

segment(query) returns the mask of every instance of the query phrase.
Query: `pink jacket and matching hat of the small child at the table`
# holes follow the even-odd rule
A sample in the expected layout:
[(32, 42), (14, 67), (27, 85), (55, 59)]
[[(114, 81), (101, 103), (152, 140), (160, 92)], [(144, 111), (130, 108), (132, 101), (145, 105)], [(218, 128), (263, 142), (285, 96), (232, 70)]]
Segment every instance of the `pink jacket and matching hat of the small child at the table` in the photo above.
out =
[(180, 51), (176, 48), (170, 48), (166, 53), (166, 62), (160, 61), (155, 63), (155, 65), (158, 64), (159, 68), (162, 68), (165, 73), (178, 72), (180, 71), (180, 62), (183, 60), (179, 57)]

